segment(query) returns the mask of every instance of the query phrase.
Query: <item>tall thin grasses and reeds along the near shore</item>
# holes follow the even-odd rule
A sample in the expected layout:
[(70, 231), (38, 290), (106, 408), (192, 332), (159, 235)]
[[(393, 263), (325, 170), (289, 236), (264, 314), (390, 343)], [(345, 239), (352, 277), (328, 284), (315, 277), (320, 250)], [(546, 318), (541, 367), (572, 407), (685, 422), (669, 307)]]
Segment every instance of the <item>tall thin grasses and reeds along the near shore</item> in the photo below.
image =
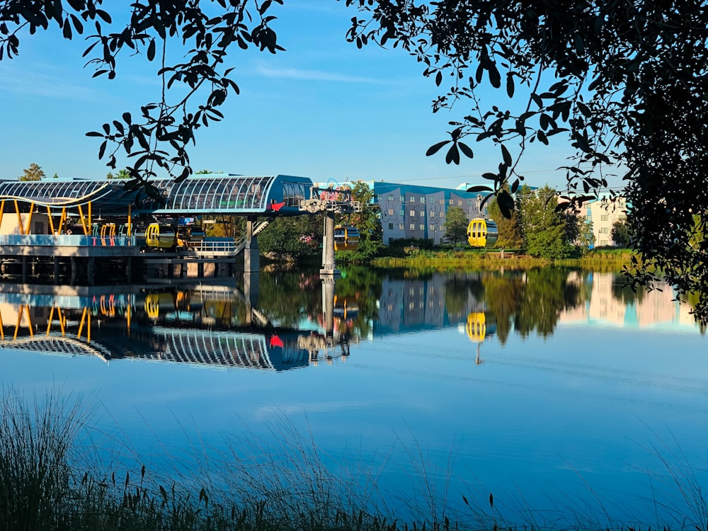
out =
[[(423, 489), (417, 501), (398, 499), (393, 507), (378, 483), (380, 469), (356, 456), (341, 462), (322, 455), (312, 435), (285, 418), (273, 426), (274, 441), (245, 433), (215, 455), (198, 443), (185, 452), (190, 462), (171, 455), (166, 466), (175, 469), (155, 471), (124, 443), (91, 428), (91, 411), (91, 400), (67, 398), (61, 389), (33, 400), (14, 389), (0, 392), (0, 530), (703, 531), (708, 525), (708, 500), (680, 454), (674, 464), (657, 453), (678, 498), (662, 503), (655, 496), (640, 518), (618, 522), (602, 503), (593, 509), (564, 500), (554, 510), (517, 508), (520, 522), (511, 522), (491, 493), (450, 500), (449, 476), (440, 491)], [(423, 484), (440, 479), (422, 452), (411, 459), (419, 459), (413, 472), (433, 474)], [(588, 496), (600, 500), (589, 487)], [(401, 508), (409, 520), (399, 519)], [(670, 521), (659, 521), (657, 509)]]

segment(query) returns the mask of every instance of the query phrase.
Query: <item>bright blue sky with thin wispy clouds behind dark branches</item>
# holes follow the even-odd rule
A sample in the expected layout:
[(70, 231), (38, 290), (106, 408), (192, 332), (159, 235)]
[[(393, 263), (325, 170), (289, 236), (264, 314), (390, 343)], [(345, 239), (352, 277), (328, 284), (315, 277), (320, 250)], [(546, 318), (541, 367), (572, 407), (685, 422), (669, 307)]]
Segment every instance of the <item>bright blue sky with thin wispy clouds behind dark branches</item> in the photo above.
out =
[[(481, 173), (496, 168), (501, 156), (491, 142), (471, 143), (475, 158), (459, 166), (445, 164), (444, 150), (426, 156), (447, 138), (447, 122), (466, 109), (434, 115), (430, 101), (438, 88), (413, 57), (346, 42), (355, 13), (343, 2), (288, 1), (273, 14), (287, 51), (234, 47), (232, 75), (241, 95), (229, 96), (223, 122), (198, 132), (190, 151), (195, 170), (455, 187), (479, 183)], [(19, 57), (0, 62), (0, 178), (16, 178), (31, 162), (47, 176), (104, 176), (109, 169), (97, 158), (99, 142), (85, 133), (159, 98), (157, 64), (124, 57), (115, 80), (92, 79), (81, 57), (85, 47), (83, 38), (67, 42), (51, 28), (24, 35)], [(482, 96), (506, 104), (504, 91)], [(527, 183), (563, 185), (563, 172), (555, 170), (570, 151), (557, 144), (527, 152)]]

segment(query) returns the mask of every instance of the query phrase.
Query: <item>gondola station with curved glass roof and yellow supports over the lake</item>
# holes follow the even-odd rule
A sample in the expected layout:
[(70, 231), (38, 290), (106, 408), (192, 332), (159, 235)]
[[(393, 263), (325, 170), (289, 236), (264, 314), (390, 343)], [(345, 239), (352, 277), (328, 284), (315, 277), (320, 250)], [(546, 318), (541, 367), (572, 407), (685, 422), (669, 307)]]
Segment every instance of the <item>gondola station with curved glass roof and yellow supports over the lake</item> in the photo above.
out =
[[(203, 278), (259, 270), (257, 235), (275, 217), (324, 212), (323, 270), (336, 273), (333, 215), (360, 210), (350, 190), (293, 176), (190, 176), (178, 183), (0, 181), (0, 276), (23, 283), (94, 285)], [(200, 216), (246, 218), (241, 241), (205, 239)], [(103, 280), (110, 279), (105, 282)]]

